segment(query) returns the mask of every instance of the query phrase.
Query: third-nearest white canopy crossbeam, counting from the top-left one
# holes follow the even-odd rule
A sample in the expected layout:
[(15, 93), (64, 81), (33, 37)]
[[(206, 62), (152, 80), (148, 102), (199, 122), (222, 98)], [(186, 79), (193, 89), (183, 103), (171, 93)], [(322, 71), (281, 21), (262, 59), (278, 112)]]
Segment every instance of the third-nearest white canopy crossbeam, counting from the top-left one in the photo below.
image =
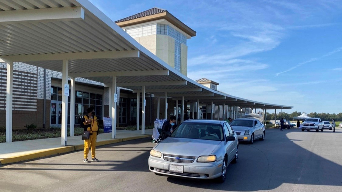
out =
[[(163, 76), (169, 75), (169, 70), (155, 70), (155, 71), (105, 71), (105, 72), (77, 72), (70, 73), (71, 77), (121, 77), (121, 76)], [(141, 90), (139, 90), (141, 92)], [(140, 93), (139, 92), (139, 93)], [(133, 92), (134, 93), (134, 92)], [(137, 92), (135, 92), (137, 93)]]

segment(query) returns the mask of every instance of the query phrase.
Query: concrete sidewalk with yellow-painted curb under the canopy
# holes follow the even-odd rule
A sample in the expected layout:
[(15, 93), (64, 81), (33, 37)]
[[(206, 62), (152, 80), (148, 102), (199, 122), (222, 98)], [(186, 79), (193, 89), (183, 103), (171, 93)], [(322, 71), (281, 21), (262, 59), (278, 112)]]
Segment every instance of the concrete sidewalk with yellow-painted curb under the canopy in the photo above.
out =
[[(146, 129), (145, 135), (141, 135), (141, 130), (116, 130), (115, 139), (111, 138), (111, 133), (103, 133), (97, 136), (96, 146), (150, 137), (152, 133), (153, 129)], [(0, 165), (84, 149), (81, 135), (68, 137), (67, 143), (62, 146), (61, 137), (0, 143)]]

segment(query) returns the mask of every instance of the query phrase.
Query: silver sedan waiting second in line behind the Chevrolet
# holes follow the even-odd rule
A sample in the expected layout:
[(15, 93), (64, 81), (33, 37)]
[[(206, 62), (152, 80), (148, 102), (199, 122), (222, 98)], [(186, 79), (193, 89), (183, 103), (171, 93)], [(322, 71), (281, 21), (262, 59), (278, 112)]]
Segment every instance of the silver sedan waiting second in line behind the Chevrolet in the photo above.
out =
[(237, 134), (239, 141), (248, 141), (253, 144), (255, 139), (265, 139), (265, 126), (259, 120), (235, 119), (231, 126)]

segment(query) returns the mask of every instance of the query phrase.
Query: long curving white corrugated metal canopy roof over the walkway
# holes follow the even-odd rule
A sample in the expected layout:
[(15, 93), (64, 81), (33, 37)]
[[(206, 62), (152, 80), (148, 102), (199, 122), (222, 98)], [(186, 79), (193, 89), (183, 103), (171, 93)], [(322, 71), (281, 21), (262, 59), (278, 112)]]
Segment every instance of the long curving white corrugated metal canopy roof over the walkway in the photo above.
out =
[(230, 106), (291, 109), (212, 90), (177, 72), (136, 42), (88, 0), (7, 0), (0, 3), (0, 58), (146, 92)]

